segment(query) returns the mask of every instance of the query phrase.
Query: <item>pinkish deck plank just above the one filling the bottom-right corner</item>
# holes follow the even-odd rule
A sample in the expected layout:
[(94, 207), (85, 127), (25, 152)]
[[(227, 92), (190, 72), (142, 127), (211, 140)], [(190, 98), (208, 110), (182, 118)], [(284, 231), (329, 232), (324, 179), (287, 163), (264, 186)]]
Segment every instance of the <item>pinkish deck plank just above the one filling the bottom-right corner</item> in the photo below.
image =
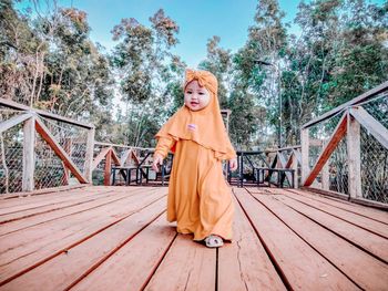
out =
[(388, 262), (388, 241), (380, 236), (370, 233), (368, 230), (356, 227), (338, 217), (334, 217), (327, 212), (317, 210), (302, 201), (295, 200), (285, 195), (275, 196), (276, 199), (286, 204), (294, 210), (307, 216), (320, 226), (335, 232), (337, 236), (346, 239), (347, 241), (358, 246), (365, 251), (372, 253), (380, 260)]

